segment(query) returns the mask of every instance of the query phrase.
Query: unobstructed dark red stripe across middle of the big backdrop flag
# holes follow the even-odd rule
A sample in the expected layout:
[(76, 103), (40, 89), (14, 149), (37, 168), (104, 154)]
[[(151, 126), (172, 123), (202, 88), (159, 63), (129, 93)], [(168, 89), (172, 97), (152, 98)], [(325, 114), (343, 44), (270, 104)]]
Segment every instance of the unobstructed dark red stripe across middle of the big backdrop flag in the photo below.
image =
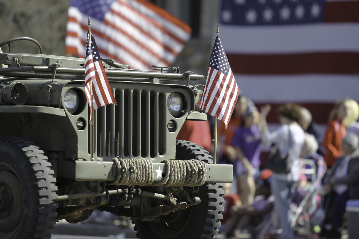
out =
[[(303, 54), (227, 53), (233, 73), (241, 74), (353, 74), (359, 71), (357, 52), (317, 52)], [(258, 67), (261, 66), (261, 67)]]

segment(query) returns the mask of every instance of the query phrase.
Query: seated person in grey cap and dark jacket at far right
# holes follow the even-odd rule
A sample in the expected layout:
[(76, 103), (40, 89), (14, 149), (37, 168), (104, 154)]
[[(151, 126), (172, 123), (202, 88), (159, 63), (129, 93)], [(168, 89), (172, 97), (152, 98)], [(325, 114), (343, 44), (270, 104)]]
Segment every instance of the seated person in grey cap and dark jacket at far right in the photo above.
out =
[[(348, 199), (359, 199), (359, 149), (358, 136), (348, 133), (342, 140), (343, 155), (339, 157), (323, 184), (330, 191), (326, 202), (327, 238), (340, 238), (340, 227)], [(331, 231), (328, 232), (328, 228)]]

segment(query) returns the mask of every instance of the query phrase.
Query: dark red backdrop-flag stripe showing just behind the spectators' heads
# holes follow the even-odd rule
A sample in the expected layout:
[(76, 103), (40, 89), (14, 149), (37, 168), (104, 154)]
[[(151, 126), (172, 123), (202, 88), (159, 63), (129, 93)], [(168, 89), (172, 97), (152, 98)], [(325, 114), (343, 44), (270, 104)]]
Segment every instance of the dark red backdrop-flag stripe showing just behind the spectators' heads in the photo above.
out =
[[(255, 102), (255, 105), (257, 106), (258, 110), (261, 109), (262, 106), (266, 104), (270, 104), (272, 107), (272, 110), (270, 111), (269, 115), (267, 116), (267, 122), (268, 123), (279, 123), (278, 119), (278, 108), (283, 105), (279, 103), (272, 104), (270, 102)], [(295, 102), (296, 103), (296, 102)], [(303, 106), (307, 108), (312, 113), (313, 121), (317, 124), (327, 124), (330, 111), (334, 107), (334, 102), (297, 102), (296, 104), (299, 104), (300, 106)]]

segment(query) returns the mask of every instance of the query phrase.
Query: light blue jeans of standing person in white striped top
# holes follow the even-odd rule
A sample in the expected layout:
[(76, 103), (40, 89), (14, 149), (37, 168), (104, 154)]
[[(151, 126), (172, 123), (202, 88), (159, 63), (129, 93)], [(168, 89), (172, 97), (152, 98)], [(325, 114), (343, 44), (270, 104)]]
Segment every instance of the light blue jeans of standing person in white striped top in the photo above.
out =
[(279, 218), (282, 233), (280, 238), (293, 239), (294, 231), (291, 226), (292, 218), (290, 214), (289, 204), (292, 202), (294, 195), (294, 181), (278, 178), (273, 175), (270, 178), (272, 194), (274, 195), (274, 210)]

